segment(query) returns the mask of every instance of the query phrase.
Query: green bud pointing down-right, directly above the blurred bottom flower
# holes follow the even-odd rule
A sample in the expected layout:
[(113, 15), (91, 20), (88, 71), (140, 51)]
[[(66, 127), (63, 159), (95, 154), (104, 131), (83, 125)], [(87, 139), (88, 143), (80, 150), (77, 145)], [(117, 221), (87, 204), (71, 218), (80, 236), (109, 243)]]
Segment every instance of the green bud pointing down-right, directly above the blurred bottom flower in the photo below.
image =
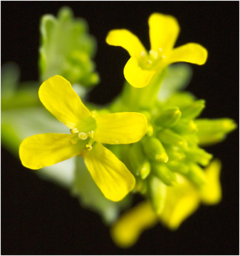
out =
[(176, 175), (167, 168), (167, 164), (152, 163), (151, 167), (153, 175), (158, 177), (164, 184), (173, 185), (173, 183), (177, 182)]

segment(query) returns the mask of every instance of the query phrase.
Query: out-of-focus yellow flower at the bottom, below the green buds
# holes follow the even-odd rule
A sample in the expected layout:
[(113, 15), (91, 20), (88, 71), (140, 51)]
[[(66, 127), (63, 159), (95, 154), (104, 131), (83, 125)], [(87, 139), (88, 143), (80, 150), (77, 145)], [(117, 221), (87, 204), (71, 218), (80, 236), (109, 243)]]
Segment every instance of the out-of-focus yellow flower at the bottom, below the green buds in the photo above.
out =
[(221, 200), (220, 161), (214, 160), (205, 169), (206, 184), (200, 191), (185, 177), (177, 175), (177, 184), (166, 186), (164, 207), (159, 215), (153, 212), (151, 203), (143, 201), (137, 204), (111, 228), (113, 241), (119, 247), (131, 247), (140, 234), (158, 221), (170, 230), (176, 230), (183, 221), (193, 214), (199, 204), (217, 204)]

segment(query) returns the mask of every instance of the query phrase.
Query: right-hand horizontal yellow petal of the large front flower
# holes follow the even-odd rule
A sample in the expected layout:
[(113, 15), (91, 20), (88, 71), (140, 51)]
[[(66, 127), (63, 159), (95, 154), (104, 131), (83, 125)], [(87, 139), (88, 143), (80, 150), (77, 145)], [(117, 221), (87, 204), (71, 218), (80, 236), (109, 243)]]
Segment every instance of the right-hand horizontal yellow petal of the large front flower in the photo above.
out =
[(148, 121), (142, 113), (106, 113), (95, 116), (95, 120), (97, 129), (94, 139), (99, 143), (136, 143), (148, 129)]

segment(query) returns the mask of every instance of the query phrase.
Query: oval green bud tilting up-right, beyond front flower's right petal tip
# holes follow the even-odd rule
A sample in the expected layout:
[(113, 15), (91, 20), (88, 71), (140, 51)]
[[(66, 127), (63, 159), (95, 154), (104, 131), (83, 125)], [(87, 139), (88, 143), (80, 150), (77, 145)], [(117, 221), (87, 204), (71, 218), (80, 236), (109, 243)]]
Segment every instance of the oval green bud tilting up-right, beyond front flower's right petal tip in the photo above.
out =
[(155, 124), (158, 127), (174, 127), (179, 121), (181, 112), (179, 108), (168, 108), (162, 111), (155, 119)]

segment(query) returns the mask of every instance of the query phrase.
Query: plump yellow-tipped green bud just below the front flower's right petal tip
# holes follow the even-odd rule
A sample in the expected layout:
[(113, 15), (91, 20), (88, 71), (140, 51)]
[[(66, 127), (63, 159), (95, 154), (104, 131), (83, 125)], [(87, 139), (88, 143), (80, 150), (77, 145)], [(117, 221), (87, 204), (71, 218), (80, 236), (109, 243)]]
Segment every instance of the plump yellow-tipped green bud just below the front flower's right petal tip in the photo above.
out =
[(147, 137), (143, 143), (143, 149), (152, 161), (164, 161), (164, 163), (167, 163), (167, 153), (164, 146), (156, 137)]

